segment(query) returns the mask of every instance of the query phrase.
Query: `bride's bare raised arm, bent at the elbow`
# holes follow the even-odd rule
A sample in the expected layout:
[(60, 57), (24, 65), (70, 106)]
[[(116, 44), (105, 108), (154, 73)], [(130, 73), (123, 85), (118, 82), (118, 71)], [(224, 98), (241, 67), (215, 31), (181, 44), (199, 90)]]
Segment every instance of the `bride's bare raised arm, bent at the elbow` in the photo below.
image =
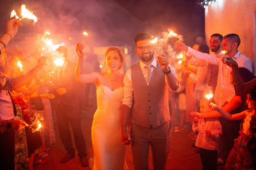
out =
[(80, 83), (96, 83), (98, 81), (99, 73), (90, 73), (90, 74), (83, 74), (82, 73), (82, 62), (83, 58), (86, 57), (86, 52), (84, 50), (84, 46), (82, 42), (78, 42), (76, 44), (76, 53), (78, 58), (76, 71), (75, 71), (75, 80)]

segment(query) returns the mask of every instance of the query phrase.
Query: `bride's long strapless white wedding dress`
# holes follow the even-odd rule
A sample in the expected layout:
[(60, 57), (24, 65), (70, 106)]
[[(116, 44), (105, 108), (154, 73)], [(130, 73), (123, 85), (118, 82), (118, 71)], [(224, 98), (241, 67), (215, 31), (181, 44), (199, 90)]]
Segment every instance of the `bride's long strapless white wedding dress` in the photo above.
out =
[(112, 91), (105, 85), (96, 90), (97, 110), (92, 122), (93, 170), (128, 169), (121, 135), (123, 87)]

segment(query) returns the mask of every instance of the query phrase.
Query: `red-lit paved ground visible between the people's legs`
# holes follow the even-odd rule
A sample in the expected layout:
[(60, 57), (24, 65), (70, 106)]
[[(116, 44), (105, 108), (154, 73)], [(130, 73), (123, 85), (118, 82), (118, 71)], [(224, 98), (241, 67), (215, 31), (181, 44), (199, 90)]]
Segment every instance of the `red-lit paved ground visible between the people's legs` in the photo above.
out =
[[(92, 114), (91, 114), (92, 115)], [(82, 119), (82, 128), (83, 134), (86, 139), (87, 150), (88, 150), (88, 157), (90, 159), (90, 167), (84, 168), (80, 165), (79, 159), (76, 157), (75, 159), (69, 161), (65, 164), (60, 164), (59, 160), (60, 157), (64, 155), (64, 148), (63, 144), (60, 141), (59, 133), (57, 133), (56, 144), (52, 146), (50, 152), (50, 159), (52, 160), (50, 163), (43, 164), (43, 165), (34, 165), (34, 169), (37, 170), (61, 170), (61, 169), (92, 169), (93, 165), (93, 150), (91, 144), (91, 122), (92, 116), (83, 116)], [(200, 170), (201, 162), (199, 154), (196, 153), (196, 148), (192, 147), (192, 144), (195, 142), (188, 137), (188, 129), (185, 129), (179, 133), (172, 133), (172, 147), (170, 151), (170, 155), (168, 157), (167, 163), (167, 170)], [(126, 148), (126, 161), (127, 165), (130, 170), (133, 170), (133, 158), (131, 156), (131, 148), (130, 146)], [(151, 154), (149, 155), (149, 169), (153, 169), (152, 165), (152, 157)], [(223, 167), (218, 167), (218, 169), (224, 169)]]

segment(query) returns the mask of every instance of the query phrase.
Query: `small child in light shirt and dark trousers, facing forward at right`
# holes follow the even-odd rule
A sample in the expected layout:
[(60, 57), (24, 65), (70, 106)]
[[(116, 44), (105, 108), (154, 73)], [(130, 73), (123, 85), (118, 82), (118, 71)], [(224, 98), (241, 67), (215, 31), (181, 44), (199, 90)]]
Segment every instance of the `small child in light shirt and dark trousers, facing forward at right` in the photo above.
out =
[[(211, 106), (206, 100), (200, 101), (200, 112), (210, 112)], [(217, 169), (216, 138), (222, 133), (218, 118), (194, 117), (193, 132), (199, 132), (196, 147), (199, 147), (201, 163), (204, 170)]]

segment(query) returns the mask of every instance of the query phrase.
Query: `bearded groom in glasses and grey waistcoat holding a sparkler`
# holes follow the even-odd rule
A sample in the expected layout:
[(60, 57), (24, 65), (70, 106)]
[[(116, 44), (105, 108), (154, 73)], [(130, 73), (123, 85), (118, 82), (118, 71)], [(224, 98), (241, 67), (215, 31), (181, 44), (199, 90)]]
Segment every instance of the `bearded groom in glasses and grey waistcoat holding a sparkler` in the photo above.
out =
[(168, 58), (164, 55), (157, 56), (158, 61), (154, 58), (151, 40), (148, 33), (136, 35), (135, 52), (140, 61), (127, 70), (123, 80), (122, 143), (132, 143), (135, 170), (149, 169), (149, 146), (154, 169), (165, 169), (171, 129), (168, 88), (173, 91), (179, 88)]

